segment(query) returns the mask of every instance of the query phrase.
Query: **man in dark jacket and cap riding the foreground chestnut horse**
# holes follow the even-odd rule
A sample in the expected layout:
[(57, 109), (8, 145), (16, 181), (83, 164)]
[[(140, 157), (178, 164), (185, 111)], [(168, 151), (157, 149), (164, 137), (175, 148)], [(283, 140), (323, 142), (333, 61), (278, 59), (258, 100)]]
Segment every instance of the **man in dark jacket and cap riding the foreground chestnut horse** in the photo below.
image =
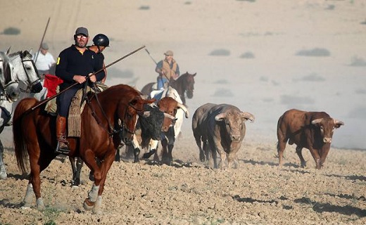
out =
[[(58, 115), (56, 118), (56, 138), (58, 145), (56, 153), (68, 154), (68, 141), (65, 139), (66, 117), (70, 108), (71, 99), (75, 96), (77, 90), (84, 87), (84, 82), (89, 79), (90, 82), (99, 82), (105, 77), (105, 72), (102, 70), (103, 63), (101, 63), (94, 51), (87, 49), (89, 39), (88, 30), (85, 27), (77, 28), (74, 40), (75, 44), (61, 51), (56, 63), (56, 76), (63, 79), (60, 84), (60, 91), (68, 88), (72, 84), (78, 83), (72, 88), (61, 93), (57, 99)], [(93, 72), (98, 72), (87, 78)]]

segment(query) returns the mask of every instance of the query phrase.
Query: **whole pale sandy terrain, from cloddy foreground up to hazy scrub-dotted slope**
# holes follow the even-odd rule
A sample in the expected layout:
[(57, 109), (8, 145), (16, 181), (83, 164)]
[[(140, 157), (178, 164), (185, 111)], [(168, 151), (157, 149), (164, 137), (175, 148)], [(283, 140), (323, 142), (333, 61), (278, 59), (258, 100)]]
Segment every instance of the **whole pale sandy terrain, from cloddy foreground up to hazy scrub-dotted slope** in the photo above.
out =
[[(48, 18), (44, 41), (55, 58), (80, 26), (110, 37), (107, 64), (143, 45), (154, 60), (171, 49), (182, 73), (197, 73), (191, 115), (204, 103), (230, 103), (256, 120), (246, 126), (239, 169), (199, 162), (191, 118), (172, 165), (113, 163), (101, 216), (82, 208), (92, 186), (88, 169), (80, 188), (71, 188), (68, 160), (54, 160), (41, 174), (46, 210), (21, 209), (27, 179), (6, 128), (0, 224), (366, 224), (366, 151), (354, 150), (366, 146), (365, 11), (357, 0), (2, 2), (1, 51), (38, 49)], [(20, 34), (1, 33), (7, 27)], [(156, 79), (154, 67), (139, 51), (108, 69), (107, 84), (141, 89)], [(293, 146), (277, 169), (276, 124), (290, 108), (324, 110), (345, 122), (321, 170), (308, 150), (308, 168), (299, 167)]]

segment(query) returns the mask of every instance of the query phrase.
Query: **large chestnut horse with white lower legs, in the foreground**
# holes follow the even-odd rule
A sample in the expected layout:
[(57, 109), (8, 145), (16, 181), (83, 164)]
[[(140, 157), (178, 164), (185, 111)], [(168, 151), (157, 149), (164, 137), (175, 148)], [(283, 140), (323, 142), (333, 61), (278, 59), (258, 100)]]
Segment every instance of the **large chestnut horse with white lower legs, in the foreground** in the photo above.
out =
[[(137, 113), (144, 113), (144, 104), (153, 101), (155, 99), (141, 98), (137, 90), (125, 84), (111, 86), (99, 94), (87, 95), (87, 104), (81, 115), (81, 136), (68, 137), (69, 156), (82, 158), (94, 175), (92, 190), (84, 200), (85, 210), (101, 214), (101, 194), (116, 149), (121, 140), (132, 141)], [(45, 113), (43, 106), (35, 108), (34, 105), (38, 103), (35, 98), (25, 98), (18, 103), (13, 118), (13, 136), (15, 156), (22, 172), (27, 169), (27, 155), (30, 161), (30, 180), (24, 206), (30, 207), (33, 190), (37, 208), (42, 210), (44, 203), (39, 174), (56, 158), (54, 149), (57, 141), (56, 117)]]

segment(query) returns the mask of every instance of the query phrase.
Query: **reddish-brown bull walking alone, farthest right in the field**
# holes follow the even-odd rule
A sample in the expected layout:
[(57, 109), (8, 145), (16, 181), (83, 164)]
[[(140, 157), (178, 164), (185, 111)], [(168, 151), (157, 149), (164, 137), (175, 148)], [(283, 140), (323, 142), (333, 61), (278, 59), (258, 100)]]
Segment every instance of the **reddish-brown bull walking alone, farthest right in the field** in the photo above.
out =
[(344, 125), (324, 112), (305, 112), (301, 110), (288, 110), (279, 117), (277, 123), (277, 152), (279, 167), (282, 168), (282, 157), (286, 143), (296, 144), (296, 153), (301, 160), (301, 167), (306, 166), (302, 149), (308, 148), (320, 169), (329, 153), (334, 129)]

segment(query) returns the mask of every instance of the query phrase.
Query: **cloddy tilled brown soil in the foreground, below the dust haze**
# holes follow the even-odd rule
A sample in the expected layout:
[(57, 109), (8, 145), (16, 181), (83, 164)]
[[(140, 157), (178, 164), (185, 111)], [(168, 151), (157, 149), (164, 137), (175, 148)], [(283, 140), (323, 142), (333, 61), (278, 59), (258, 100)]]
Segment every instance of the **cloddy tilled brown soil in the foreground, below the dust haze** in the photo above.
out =
[(177, 141), (172, 165), (114, 162), (98, 216), (82, 208), (92, 186), (88, 169), (80, 188), (71, 188), (68, 160), (42, 172), (46, 210), (22, 210), (27, 179), (7, 151), (0, 224), (365, 224), (366, 152), (332, 148), (321, 170), (304, 152), (307, 169), (289, 147), (279, 171), (274, 144), (244, 143), (239, 169), (221, 171), (198, 161), (187, 134)]

